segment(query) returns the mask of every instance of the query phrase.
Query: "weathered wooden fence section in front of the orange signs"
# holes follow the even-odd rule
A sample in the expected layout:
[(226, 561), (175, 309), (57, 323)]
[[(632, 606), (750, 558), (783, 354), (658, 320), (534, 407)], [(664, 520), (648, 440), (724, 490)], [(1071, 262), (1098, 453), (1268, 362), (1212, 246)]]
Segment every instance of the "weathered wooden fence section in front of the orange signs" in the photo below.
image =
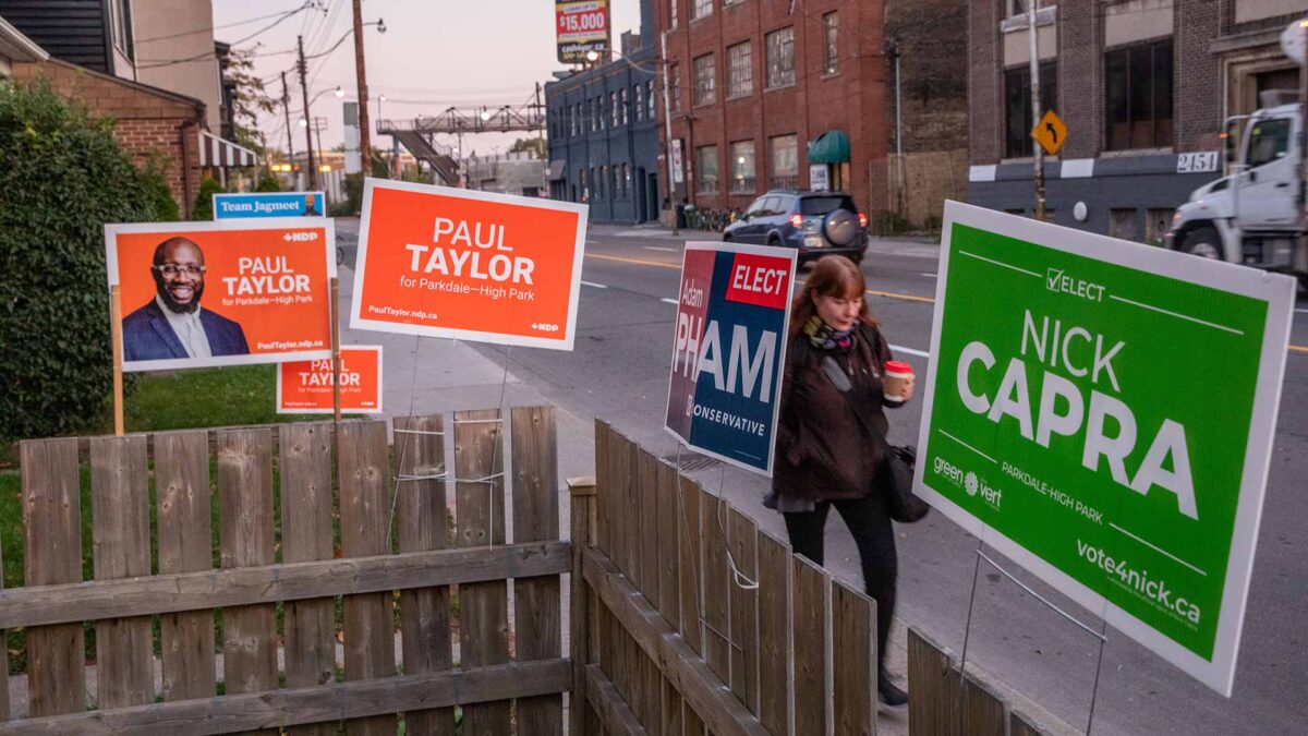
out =
[(26, 585), (0, 629), (26, 629), (30, 714), (0, 699), (0, 733), (453, 735), (455, 707), (466, 735), (562, 733), (555, 414), (509, 419), (511, 509), (498, 410), (396, 419), (394, 473), (383, 422), (22, 443)]

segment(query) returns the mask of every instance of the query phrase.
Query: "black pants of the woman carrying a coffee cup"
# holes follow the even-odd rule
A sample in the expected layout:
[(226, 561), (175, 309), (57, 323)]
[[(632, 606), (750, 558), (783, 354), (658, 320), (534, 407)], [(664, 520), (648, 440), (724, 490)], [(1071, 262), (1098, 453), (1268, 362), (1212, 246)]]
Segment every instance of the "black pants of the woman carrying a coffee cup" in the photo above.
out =
[(891, 526), (889, 509), (879, 492), (861, 499), (818, 502), (818, 508), (799, 513), (783, 513), (786, 532), (790, 534), (790, 547), (795, 554), (823, 563), (823, 528), (827, 513), (835, 506), (849, 533), (858, 545), (858, 559), (863, 564), (863, 589), (876, 601), (876, 664), (878, 672), (884, 669), (886, 642), (891, 634), (891, 617), (895, 614), (895, 578), (899, 559), (895, 555), (895, 529)]

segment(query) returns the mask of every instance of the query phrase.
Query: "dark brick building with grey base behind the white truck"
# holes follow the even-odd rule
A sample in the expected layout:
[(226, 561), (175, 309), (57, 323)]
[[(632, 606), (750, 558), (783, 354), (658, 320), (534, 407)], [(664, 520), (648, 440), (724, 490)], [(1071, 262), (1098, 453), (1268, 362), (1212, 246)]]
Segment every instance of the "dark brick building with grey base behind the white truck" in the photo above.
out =
[[(1155, 241), (1220, 175), (1226, 117), (1257, 109), (1260, 92), (1298, 89), (1278, 37), (1308, 0), (1039, 1), (1041, 106), (1069, 127), (1045, 161), (1058, 224)], [(974, 0), (968, 16), (968, 195), (1010, 212), (1035, 200), (1023, 8)]]

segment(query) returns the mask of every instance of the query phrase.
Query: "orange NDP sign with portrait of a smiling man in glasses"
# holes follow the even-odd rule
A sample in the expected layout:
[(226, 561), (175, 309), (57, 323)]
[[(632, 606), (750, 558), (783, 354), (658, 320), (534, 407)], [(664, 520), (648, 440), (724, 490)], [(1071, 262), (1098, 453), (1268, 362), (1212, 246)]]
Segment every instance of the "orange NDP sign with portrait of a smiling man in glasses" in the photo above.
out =
[(123, 369), (331, 358), (326, 219), (105, 225)]

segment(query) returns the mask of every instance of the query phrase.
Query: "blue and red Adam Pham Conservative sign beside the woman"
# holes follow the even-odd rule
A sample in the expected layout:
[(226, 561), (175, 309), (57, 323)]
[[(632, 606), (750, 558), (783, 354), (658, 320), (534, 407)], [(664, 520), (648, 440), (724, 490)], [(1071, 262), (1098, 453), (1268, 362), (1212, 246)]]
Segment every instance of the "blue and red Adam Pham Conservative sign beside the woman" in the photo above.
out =
[(795, 251), (688, 242), (664, 428), (688, 447), (772, 475)]

